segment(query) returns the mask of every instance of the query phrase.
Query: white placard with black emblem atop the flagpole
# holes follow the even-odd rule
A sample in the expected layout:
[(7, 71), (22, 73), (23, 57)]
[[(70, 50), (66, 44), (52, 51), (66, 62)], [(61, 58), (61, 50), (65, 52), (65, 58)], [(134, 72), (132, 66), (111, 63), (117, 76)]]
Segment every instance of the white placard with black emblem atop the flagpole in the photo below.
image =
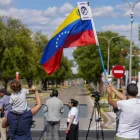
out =
[(87, 2), (78, 2), (79, 12), (82, 20), (90, 20), (89, 6)]

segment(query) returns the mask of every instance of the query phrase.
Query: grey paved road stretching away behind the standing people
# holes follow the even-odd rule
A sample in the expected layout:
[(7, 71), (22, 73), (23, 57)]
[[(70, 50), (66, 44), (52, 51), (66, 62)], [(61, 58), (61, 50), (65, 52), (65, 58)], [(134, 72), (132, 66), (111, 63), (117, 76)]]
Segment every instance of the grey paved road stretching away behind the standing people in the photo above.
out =
[[(46, 93), (45, 93), (46, 94)], [(48, 94), (49, 95), (49, 94)], [(43, 96), (42, 103), (44, 104), (46, 102), (46, 99), (49, 97)], [(86, 88), (84, 87), (84, 84), (79, 84), (76, 86), (71, 86), (67, 89), (59, 89), (59, 98), (62, 100), (64, 104), (68, 103), (70, 99), (76, 99), (78, 100), (80, 104), (80, 121), (79, 121), (79, 128), (81, 130), (87, 130), (89, 127), (91, 114), (93, 110), (93, 101), (89, 97)], [(35, 103), (34, 101), (29, 102), (28, 105), (31, 107)], [(65, 106), (65, 113), (62, 116), (61, 119), (61, 125), (60, 129), (66, 129), (66, 121), (67, 121), (67, 107)], [(95, 115), (92, 118), (91, 122), (91, 130), (95, 129)], [(35, 128), (33, 129), (42, 129), (44, 127), (44, 115), (43, 111), (40, 110), (40, 112), (37, 114), (37, 116), (34, 118), (35, 122)]]

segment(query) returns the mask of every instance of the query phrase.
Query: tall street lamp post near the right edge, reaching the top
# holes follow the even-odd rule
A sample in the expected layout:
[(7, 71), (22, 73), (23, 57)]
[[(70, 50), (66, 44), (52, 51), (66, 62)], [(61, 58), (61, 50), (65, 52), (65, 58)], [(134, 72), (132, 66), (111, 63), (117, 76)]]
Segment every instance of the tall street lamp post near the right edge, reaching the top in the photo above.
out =
[(130, 6), (131, 9), (131, 31), (130, 31), (130, 61), (129, 61), (129, 83), (131, 83), (131, 75), (132, 75), (132, 29), (133, 29), (133, 11), (134, 11), (134, 7), (137, 3), (140, 2), (140, 0), (138, 0), (136, 3), (134, 3), (133, 5), (131, 5), (130, 2), (128, 2), (127, 0), (124, 0), (125, 2), (127, 2)]

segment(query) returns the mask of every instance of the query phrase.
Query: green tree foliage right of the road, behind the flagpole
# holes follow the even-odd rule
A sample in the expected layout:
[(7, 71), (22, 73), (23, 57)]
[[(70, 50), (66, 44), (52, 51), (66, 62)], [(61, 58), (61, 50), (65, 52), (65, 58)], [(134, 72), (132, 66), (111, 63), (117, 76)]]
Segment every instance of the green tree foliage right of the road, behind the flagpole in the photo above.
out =
[[(110, 39), (114, 36), (119, 36), (118, 33), (111, 31), (99, 32), (98, 36), (106, 37)], [(99, 37), (99, 44), (104, 60), (105, 68), (107, 68), (107, 58), (108, 58), (108, 42), (107, 40)], [(129, 58), (128, 58), (128, 49), (129, 49), (129, 40), (124, 37), (113, 38), (110, 42), (110, 69), (112, 66), (121, 64), (128, 69)], [(85, 80), (100, 81), (101, 73), (103, 72), (102, 64), (100, 60), (100, 55), (98, 52), (98, 47), (95, 45), (89, 45), (84, 47), (78, 47), (73, 56), (77, 62), (78, 74), (83, 77)], [(134, 62), (133, 62), (134, 64)]]

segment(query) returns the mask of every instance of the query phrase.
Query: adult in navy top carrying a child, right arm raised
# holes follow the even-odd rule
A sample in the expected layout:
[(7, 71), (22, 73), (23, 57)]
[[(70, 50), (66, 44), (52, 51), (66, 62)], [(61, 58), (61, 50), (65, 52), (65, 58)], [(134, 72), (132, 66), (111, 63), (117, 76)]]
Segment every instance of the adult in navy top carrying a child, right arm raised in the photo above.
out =
[(38, 95), (38, 91), (35, 90), (36, 106), (30, 110), (22, 113), (15, 114), (14, 112), (9, 112), (7, 117), (2, 122), (2, 127), (7, 128), (9, 126), (9, 138), (14, 140), (32, 140), (31, 137), (31, 125), (33, 116), (41, 108), (41, 100)]

